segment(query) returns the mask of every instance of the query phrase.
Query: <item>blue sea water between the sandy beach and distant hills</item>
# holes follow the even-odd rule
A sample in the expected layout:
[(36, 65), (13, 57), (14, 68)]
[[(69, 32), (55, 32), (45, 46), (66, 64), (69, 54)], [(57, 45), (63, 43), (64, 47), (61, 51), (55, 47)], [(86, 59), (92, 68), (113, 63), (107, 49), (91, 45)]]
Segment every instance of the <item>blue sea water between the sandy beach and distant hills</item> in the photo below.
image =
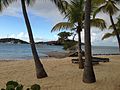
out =
[[(40, 57), (47, 56), (47, 52), (59, 51), (65, 52), (62, 46), (54, 45), (36, 45)], [(83, 47), (84, 49), (84, 47)], [(117, 47), (110, 46), (93, 46), (93, 54), (117, 54)], [(29, 44), (0, 44), (0, 60), (27, 60), (32, 58)]]

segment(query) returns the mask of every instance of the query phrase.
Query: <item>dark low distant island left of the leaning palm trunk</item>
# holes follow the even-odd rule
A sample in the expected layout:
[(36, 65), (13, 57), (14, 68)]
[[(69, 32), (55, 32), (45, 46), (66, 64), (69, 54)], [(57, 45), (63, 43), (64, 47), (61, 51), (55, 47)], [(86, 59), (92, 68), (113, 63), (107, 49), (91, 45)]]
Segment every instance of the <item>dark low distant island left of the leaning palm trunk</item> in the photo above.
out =
[(26, 41), (15, 39), (15, 38), (2, 38), (0, 39), (0, 43), (8, 43), (8, 44), (29, 44)]

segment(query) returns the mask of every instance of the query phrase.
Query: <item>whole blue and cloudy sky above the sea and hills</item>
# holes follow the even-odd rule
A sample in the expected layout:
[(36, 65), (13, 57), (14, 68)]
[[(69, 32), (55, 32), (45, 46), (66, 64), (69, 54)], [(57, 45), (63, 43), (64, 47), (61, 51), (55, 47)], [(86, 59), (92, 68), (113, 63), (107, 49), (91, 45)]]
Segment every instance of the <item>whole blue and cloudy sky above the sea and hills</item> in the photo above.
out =
[[(36, 0), (34, 5), (27, 7), (27, 11), (36, 42), (58, 39), (57, 34), (59, 32), (51, 33), (51, 29), (58, 22), (65, 20), (53, 3), (48, 0)], [(97, 17), (105, 19), (107, 25), (110, 24), (107, 15), (98, 14)], [(98, 28), (91, 28), (92, 45), (117, 46), (116, 37), (101, 40), (105, 32), (108, 32), (108, 30), (101, 31)], [(29, 41), (19, 0), (4, 8), (0, 13), (0, 38), (18, 38)], [(82, 42), (84, 42), (84, 31), (82, 32)]]

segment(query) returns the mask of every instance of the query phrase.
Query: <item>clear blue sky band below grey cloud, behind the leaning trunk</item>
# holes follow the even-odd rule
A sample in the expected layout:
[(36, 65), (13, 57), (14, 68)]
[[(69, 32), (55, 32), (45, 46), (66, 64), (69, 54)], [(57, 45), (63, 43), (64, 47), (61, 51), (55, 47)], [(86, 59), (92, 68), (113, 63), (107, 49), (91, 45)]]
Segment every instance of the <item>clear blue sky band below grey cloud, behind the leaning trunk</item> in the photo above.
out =
[[(29, 18), (35, 38), (44, 38), (46, 40), (54, 39), (55, 33), (50, 32), (52, 28), (51, 23), (40, 16), (30, 15)], [(19, 35), (20, 33), (27, 34), (24, 19), (22, 17), (1, 16), (0, 26), (1, 37), (17, 37), (17, 35)]]

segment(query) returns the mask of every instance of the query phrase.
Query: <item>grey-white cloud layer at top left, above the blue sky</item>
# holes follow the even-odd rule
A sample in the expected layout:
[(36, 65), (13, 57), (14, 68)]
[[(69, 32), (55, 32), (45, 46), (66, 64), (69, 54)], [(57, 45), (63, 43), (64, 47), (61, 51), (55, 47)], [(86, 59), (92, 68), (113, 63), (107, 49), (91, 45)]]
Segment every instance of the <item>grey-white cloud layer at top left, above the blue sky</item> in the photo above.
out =
[[(13, 4), (10, 4), (9, 7), (5, 8), (1, 15), (21, 17), (21, 8), (20, 1), (14, 2)], [(27, 7), (27, 10), (29, 13), (45, 18), (47, 21), (52, 22), (53, 24), (63, 21), (63, 17), (54, 3), (47, 0), (36, 0), (32, 6)]]

